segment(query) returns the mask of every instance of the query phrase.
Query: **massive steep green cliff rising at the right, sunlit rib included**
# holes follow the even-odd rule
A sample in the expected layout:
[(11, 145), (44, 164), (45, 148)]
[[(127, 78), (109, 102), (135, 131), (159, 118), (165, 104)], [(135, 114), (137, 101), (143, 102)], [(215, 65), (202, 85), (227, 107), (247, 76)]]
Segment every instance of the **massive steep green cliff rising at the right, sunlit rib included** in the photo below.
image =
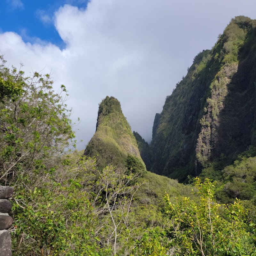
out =
[(184, 181), (256, 143), (256, 20), (232, 19), (167, 96), (153, 126), (152, 171)]

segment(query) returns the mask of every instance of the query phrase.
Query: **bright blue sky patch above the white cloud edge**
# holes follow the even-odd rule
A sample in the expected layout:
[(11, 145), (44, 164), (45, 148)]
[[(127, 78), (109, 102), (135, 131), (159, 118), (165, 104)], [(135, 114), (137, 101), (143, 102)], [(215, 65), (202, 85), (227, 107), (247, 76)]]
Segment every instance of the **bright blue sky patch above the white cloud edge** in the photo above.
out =
[(13, 31), (22, 36), (24, 42), (35, 42), (36, 38), (65, 47), (54, 27), (54, 12), (64, 4), (85, 9), (87, 0), (1, 0), (1, 32)]

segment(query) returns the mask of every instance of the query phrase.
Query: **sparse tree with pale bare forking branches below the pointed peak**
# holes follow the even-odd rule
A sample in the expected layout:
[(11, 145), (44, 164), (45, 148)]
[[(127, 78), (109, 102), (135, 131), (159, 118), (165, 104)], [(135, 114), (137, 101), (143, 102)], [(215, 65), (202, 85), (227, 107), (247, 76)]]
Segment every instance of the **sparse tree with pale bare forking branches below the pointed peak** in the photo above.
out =
[(84, 170), (82, 175), (84, 189), (91, 195), (93, 212), (102, 224), (95, 232), (101, 234), (101, 243), (113, 248), (116, 255), (120, 250), (117, 238), (121, 235), (124, 238), (124, 230), (129, 228), (133, 196), (144, 184), (139, 182), (141, 172), (124, 173), (121, 168), (106, 166), (102, 171), (98, 168)]

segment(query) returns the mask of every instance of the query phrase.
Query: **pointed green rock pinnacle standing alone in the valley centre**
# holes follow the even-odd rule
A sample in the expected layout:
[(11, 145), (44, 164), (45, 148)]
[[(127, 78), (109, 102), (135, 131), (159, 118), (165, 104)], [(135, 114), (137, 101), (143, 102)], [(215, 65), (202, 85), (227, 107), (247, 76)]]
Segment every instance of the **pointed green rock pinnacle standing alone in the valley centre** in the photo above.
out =
[(97, 156), (100, 168), (108, 164), (125, 168), (128, 155), (135, 156), (145, 166), (131, 127), (116, 98), (107, 96), (100, 103), (96, 132), (89, 141), (84, 154)]

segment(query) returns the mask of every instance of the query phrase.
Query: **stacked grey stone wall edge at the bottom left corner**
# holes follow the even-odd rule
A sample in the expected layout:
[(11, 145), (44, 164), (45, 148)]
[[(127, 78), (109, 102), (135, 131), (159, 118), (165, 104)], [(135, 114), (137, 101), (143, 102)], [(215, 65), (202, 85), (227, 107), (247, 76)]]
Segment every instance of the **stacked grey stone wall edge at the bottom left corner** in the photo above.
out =
[(11, 256), (11, 235), (6, 230), (12, 226), (12, 217), (8, 212), (12, 205), (7, 200), (13, 194), (12, 187), (0, 186), (0, 256)]

